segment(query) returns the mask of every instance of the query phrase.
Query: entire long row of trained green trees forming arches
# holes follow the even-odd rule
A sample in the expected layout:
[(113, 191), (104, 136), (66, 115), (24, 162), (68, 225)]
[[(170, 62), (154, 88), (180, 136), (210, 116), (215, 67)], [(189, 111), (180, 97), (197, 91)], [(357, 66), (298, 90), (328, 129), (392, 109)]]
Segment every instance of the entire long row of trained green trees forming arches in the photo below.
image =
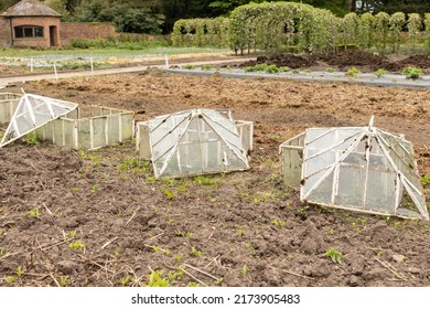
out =
[(190, 19), (175, 23), (175, 46), (229, 46), (251, 50), (333, 52), (341, 47), (375, 49), (379, 53), (430, 52), (430, 13), (332, 12), (297, 2), (250, 3), (236, 8), (229, 19)]

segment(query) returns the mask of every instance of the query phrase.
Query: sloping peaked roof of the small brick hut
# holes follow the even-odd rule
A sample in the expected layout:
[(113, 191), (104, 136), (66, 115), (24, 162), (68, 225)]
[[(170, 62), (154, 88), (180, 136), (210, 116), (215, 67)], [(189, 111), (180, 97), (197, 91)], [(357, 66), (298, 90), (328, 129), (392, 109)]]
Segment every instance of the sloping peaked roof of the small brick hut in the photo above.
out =
[(6, 10), (3, 17), (58, 17), (62, 14), (39, 0), (22, 0)]

